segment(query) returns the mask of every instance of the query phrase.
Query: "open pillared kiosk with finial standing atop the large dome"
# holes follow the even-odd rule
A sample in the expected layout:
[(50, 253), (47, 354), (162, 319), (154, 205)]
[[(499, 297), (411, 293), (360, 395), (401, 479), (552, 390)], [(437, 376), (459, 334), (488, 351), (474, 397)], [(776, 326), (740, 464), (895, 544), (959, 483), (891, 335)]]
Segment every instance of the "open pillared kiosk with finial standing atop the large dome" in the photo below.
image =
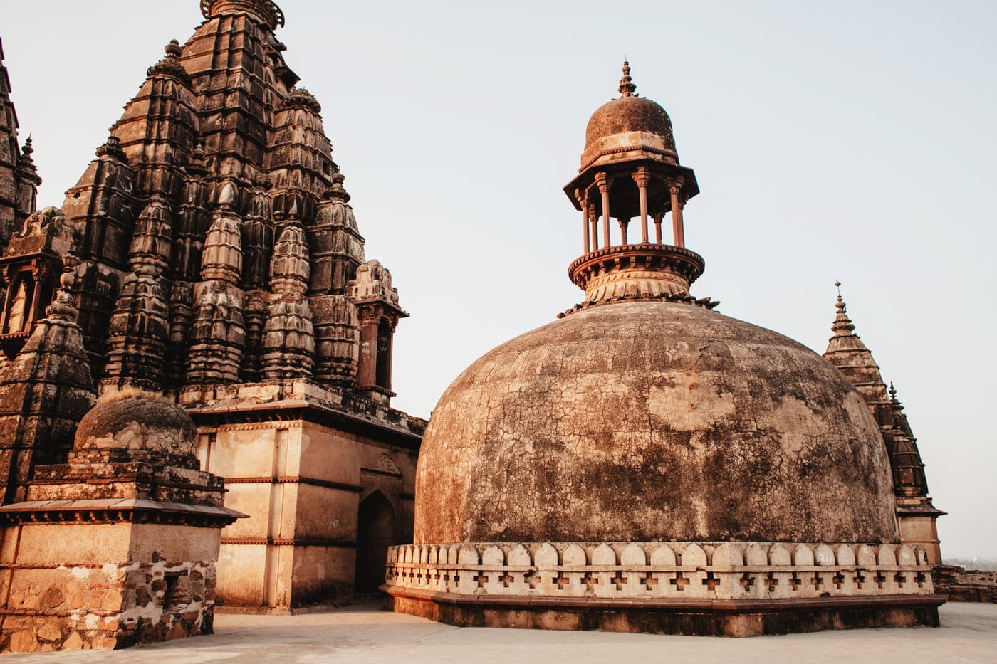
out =
[[(568, 268), (585, 291), (579, 306), (689, 299), (705, 267), (685, 248), (683, 208), (699, 193), (696, 175), (679, 164), (668, 114), (636, 89), (623, 63), (620, 97), (592, 116), (578, 176), (564, 187), (582, 216), (583, 254)], [(668, 215), (671, 244), (661, 228)]]

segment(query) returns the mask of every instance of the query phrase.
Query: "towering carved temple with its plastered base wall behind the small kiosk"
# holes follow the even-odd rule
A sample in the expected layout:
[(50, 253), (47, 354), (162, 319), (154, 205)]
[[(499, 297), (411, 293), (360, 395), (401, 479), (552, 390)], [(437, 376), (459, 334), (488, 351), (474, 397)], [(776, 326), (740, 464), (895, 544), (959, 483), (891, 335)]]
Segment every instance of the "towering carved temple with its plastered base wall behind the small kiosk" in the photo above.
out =
[[(284, 60), (283, 12), (271, 0), (199, 7), (203, 22), (145, 70), (62, 210), (31, 215), (40, 180), (30, 142), (16, 150), (0, 66), (0, 391), (23, 387), (2, 365), (34, 347), (73, 254), (93, 385), (186, 409), (202, 470), (251, 516), (221, 535), (219, 603), (339, 602), (370, 585), (360, 558), (383, 561), (411, 538), (426, 423), (390, 407), (393, 336), (408, 314), (364, 253), (322, 106)], [(64, 463), (74, 426), (37, 461)], [(24, 447), (11, 457), (14, 493), (32, 480)]]

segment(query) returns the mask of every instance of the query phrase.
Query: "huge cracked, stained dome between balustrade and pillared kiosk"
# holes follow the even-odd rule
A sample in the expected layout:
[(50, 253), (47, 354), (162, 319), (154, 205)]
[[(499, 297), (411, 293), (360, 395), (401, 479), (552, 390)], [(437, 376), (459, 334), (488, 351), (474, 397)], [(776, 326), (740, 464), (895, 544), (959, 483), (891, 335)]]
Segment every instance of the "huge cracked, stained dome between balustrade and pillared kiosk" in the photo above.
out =
[(897, 541), (865, 403), (780, 334), (615, 303), (509, 341), (437, 405), (415, 541)]

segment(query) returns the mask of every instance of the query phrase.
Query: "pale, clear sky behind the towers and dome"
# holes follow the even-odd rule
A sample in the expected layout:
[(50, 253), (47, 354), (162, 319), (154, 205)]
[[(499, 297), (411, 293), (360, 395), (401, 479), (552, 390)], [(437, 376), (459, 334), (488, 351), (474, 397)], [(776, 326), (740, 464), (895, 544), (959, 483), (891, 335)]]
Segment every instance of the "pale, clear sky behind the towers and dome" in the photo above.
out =
[[(499, 343), (580, 299), (560, 190), (626, 55), (702, 193), (693, 294), (823, 352), (833, 281), (926, 464), (946, 556), (997, 556), (997, 3), (280, 0), (368, 258), (412, 313), (394, 405), (428, 417)], [(196, 0), (8, 0), (40, 205), (61, 205)]]

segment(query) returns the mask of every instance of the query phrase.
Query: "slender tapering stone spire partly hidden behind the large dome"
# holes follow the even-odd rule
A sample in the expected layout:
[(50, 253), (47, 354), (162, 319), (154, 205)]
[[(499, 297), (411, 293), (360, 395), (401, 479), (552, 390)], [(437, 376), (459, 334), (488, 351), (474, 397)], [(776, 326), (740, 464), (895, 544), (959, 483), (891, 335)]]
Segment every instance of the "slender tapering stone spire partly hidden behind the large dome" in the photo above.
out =
[[(836, 282), (835, 285), (839, 287), (841, 284)], [(924, 464), (903, 406), (896, 398), (892, 384), (887, 395), (879, 366), (861, 338), (854, 333), (855, 325), (848, 318), (840, 292), (834, 307), (837, 311), (831, 325), (834, 336), (828, 342), (824, 357), (855, 386), (879, 425), (893, 474), (900, 540), (911, 546), (923, 546), (928, 562), (941, 564), (937, 521), (946, 512), (935, 507), (928, 496)]]

